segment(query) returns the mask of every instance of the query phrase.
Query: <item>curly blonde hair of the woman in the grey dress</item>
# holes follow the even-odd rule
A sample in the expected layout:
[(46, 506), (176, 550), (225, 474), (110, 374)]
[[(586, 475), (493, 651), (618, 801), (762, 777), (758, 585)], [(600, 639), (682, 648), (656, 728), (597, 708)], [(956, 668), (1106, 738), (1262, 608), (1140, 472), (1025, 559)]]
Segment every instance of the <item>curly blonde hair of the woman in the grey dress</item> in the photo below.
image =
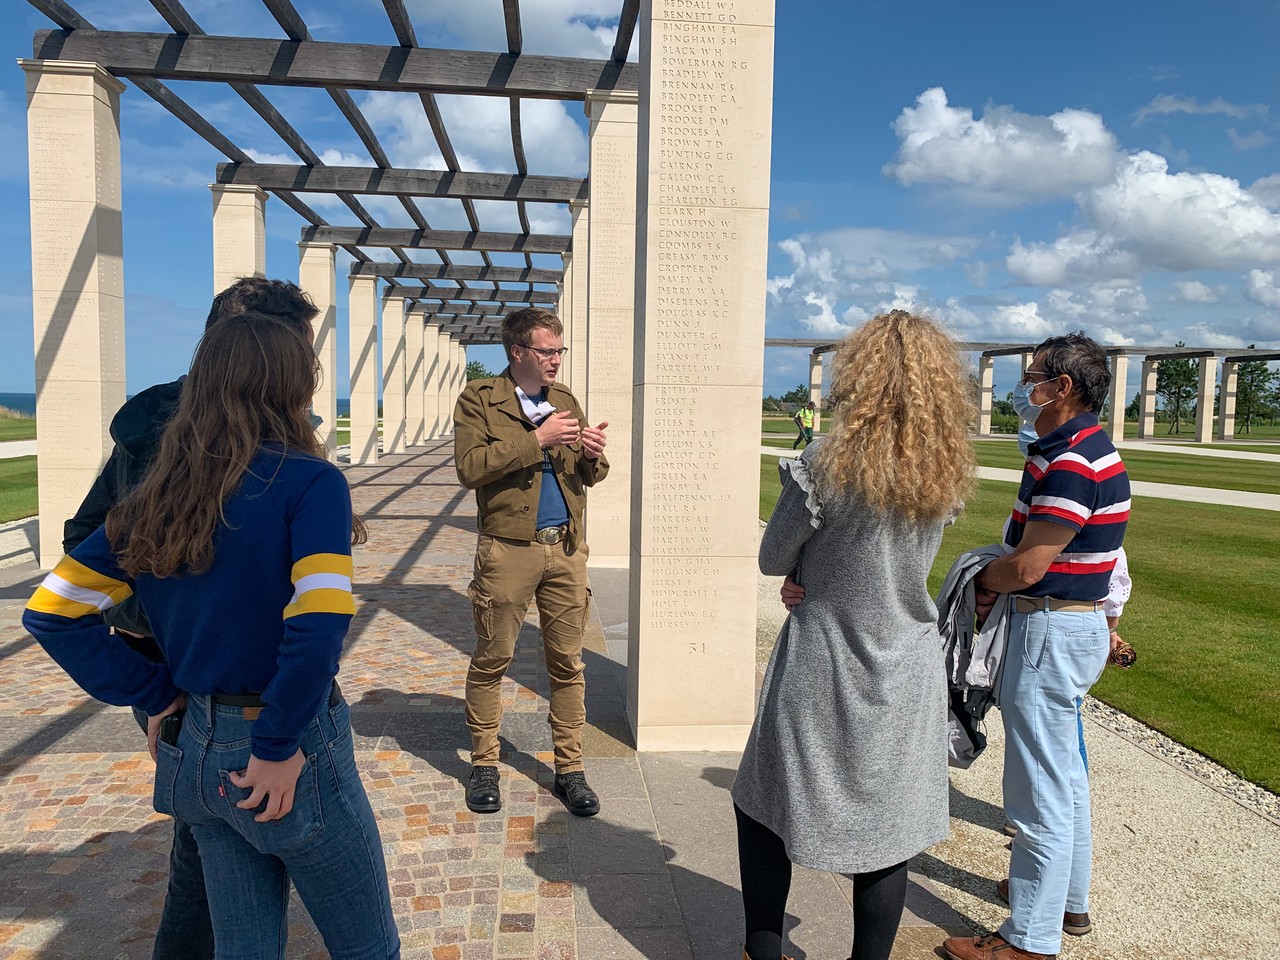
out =
[(833, 428), (815, 457), (824, 485), (911, 521), (951, 516), (974, 480), (973, 401), (955, 342), (895, 310), (836, 351)]

